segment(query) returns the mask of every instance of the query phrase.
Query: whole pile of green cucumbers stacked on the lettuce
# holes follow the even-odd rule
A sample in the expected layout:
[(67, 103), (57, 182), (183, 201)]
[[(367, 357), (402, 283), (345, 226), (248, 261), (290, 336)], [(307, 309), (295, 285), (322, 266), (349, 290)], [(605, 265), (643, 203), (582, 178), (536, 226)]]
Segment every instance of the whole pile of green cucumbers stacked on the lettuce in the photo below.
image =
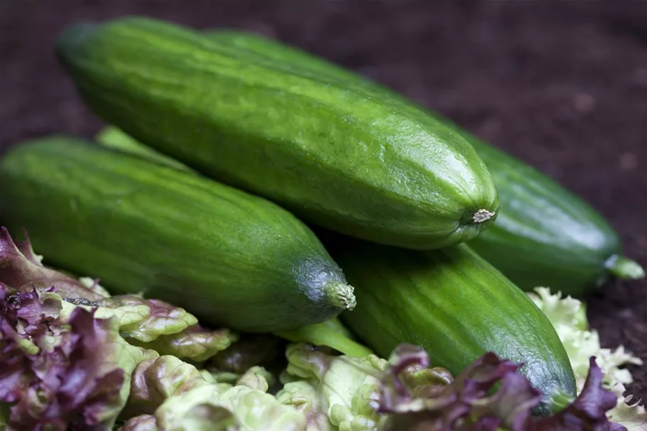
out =
[(116, 293), (246, 332), (339, 315), (377, 354), (418, 344), (452, 373), (494, 351), (546, 412), (575, 381), (523, 290), (644, 275), (578, 197), (307, 53), (148, 18), (71, 26), (57, 53), (114, 127), (9, 151), (0, 223)]

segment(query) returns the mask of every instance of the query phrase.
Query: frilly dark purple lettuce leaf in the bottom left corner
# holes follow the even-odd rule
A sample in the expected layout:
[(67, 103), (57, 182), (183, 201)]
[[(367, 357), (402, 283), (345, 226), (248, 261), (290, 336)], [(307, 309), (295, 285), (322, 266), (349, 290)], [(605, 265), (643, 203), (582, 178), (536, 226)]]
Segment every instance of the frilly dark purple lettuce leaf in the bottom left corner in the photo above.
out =
[(62, 319), (56, 293), (3, 290), (0, 298), (0, 349), (11, 352), (0, 356), (9, 428), (112, 429), (131, 372), (154, 352), (126, 343), (114, 320), (82, 308)]

